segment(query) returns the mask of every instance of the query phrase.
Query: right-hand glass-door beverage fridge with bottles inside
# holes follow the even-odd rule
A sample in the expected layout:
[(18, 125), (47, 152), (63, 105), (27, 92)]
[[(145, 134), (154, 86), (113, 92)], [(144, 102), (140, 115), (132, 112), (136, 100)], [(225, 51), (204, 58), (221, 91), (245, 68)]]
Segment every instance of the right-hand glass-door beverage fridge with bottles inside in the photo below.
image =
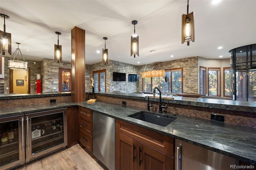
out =
[(25, 115), (26, 163), (67, 146), (67, 109)]

